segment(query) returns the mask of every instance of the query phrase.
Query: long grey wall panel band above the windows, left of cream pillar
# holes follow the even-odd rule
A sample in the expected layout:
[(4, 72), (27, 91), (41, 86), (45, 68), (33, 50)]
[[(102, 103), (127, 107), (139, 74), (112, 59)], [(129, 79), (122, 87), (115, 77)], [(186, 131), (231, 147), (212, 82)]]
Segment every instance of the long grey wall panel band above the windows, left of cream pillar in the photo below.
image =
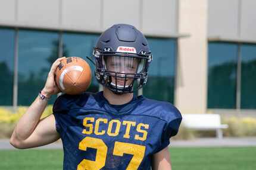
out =
[(145, 34), (177, 34), (178, 0), (1, 0), (0, 25), (101, 32), (116, 23)]

